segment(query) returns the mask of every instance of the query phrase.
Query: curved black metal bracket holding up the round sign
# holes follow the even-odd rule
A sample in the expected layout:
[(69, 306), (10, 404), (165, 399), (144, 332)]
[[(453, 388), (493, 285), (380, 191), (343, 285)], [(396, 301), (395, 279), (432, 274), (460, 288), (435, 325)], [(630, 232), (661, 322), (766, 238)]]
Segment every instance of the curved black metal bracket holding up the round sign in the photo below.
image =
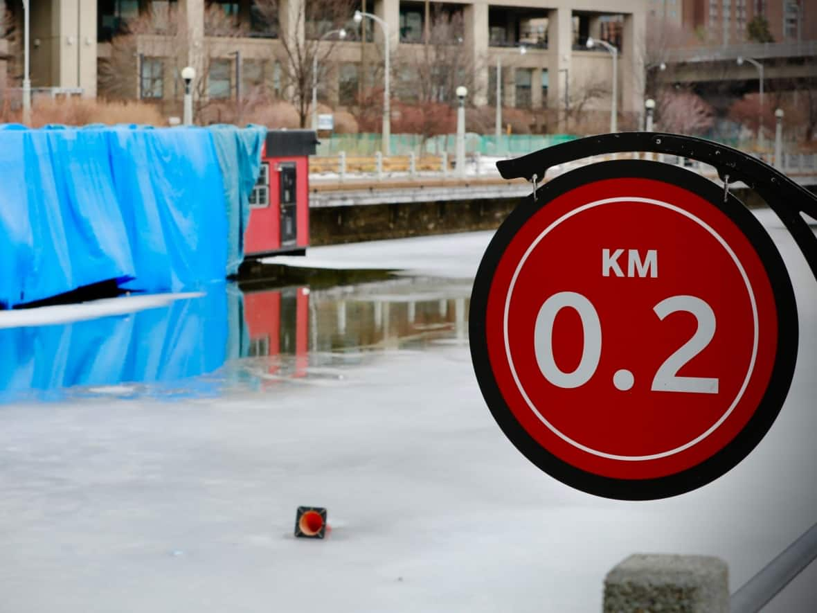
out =
[(497, 162), (497, 168), (505, 179), (533, 181), (538, 177), (538, 181), (542, 181), (547, 169), (558, 164), (593, 155), (637, 151), (694, 159), (715, 167), (725, 184), (743, 181), (783, 221), (817, 280), (817, 236), (802, 217), (805, 213), (817, 221), (817, 196), (783, 172), (732, 147), (680, 134), (621, 132), (552, 145), (519, 158), (501, 160)]

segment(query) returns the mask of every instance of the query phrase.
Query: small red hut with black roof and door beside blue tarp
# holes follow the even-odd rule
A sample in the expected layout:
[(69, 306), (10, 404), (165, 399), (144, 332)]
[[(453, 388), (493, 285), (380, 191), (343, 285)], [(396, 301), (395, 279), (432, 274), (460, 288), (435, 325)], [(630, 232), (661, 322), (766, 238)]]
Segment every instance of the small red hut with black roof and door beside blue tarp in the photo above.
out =
[(244, 234), (248, 257), (303, 254), (309, 245), (309, 156), (312, 130), (270, 130), (261, 150), (261, 173), (250, 196)]

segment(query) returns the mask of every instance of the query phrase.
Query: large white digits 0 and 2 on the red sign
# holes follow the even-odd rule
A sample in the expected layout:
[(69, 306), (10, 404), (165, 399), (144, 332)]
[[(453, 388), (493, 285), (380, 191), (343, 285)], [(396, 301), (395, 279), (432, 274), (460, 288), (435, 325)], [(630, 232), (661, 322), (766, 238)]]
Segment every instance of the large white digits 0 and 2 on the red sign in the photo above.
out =
[[(553, 357), (553, 324), (563, 308), (572, 308), (578, 313), (584, 331), (582, 358), (570, 373), (560, 369)], [(654, 392), (717, 394), (717, 378), (678, 376), (678, 371), (703, 351), (715, 335), (712, 307), (694, 296), (672, 296), (655, 305), (653, 311), (660, 320), (671, 313), (686, 311), (694, 315), (698, 327), (690, 340), (664, 360), (655, 373), (650, 389)], [(572, 389), (587, 383), (596, 373), (601, 357), (601, 322), (592, 302), (576, 292), (555, 293), (547, 298), (536, 316), (534, 351), (542, 375), (556, 387)]]

